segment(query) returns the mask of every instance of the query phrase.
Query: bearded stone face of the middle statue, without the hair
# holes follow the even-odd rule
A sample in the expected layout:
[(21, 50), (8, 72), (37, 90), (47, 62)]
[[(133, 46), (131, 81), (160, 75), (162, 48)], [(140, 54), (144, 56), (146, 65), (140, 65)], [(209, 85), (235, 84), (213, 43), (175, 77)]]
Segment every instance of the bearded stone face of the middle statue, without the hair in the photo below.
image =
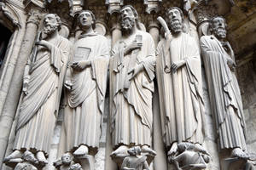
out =
[(135, 15), (130, 7), (122, 8), (121, 11), (121, 26), (124, 31), (129, 31), (135, 26)]

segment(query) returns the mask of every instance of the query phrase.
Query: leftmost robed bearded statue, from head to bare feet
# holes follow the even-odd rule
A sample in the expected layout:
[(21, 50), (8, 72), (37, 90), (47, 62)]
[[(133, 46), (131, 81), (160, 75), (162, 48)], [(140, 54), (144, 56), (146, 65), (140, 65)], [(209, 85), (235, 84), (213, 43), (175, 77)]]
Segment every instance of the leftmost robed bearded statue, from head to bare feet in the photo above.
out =
[(47, 163), (70, 50), (69, 41), (58, 34), (60, 28), (59, 16), (44, 17), (44, 39), (35, 43), (37, 50), (33, 50), (25, 68), (14, 152), (4, 161), (30, 150), (39, 163)]

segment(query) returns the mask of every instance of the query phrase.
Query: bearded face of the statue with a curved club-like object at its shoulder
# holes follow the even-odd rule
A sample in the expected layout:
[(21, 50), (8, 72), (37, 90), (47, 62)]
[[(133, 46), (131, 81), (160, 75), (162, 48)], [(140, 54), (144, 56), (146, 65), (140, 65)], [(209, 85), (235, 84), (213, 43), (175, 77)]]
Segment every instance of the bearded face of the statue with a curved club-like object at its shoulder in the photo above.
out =
[(172, 8), (168, 12), (169, 26), (171, 27), (172, 33), (182, 31), (183, 18), (182, 14), (177, 8)]

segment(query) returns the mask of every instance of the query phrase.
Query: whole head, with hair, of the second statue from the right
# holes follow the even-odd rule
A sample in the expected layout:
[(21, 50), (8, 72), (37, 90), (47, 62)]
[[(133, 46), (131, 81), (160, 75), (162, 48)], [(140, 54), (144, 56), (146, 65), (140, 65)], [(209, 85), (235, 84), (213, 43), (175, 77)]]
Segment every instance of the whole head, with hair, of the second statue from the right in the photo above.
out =
[(180, 8), (172, 7), (166, 12), (168, 25), (173, 34), (183, 31), (183, 11)]

